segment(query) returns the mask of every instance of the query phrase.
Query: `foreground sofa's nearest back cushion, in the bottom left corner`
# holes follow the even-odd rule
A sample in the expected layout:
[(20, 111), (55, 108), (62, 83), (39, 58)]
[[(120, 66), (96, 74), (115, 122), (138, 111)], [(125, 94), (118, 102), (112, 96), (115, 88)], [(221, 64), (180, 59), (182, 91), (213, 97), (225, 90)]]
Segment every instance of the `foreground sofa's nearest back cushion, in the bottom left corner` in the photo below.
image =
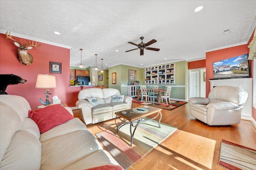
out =
[(4, 154), (0, 169), (39, 170), (41, 148), (40, 141), (34, 135), (27, 131), (17, 131)]

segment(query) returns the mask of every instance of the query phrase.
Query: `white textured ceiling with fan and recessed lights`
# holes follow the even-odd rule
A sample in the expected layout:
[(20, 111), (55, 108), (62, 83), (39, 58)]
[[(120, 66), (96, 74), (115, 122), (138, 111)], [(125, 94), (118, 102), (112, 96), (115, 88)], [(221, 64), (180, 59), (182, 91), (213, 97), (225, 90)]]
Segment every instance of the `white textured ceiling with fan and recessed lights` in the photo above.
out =
[[(83, 66), (95, 67), (98, 54), (103, 69), (204, 59), (206, 51), (248, 43), (255, 16), (256, 0), (0, 1), (1, 33), (71, 47), (70, 66), (80, 65), (82, 48)], [(226, 29), (231, 32), (224, 35)], [(127, 42), (138, 44), (142, 36), (144, 43), (156, 39), (149, 47), (160, 51), (126, 53), (136, 48)]]

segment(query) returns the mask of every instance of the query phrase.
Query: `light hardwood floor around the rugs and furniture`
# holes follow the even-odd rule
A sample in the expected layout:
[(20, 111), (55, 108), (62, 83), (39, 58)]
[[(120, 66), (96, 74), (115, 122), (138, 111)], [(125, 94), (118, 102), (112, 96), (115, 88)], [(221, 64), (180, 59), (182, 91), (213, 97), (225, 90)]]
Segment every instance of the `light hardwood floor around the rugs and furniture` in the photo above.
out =
[[(140, 104), (132, 103), (136, 106)], [(73, 112), (79, 117), (78, 111)], [(250, 121), (241, 120), (231, 127), (207, 126), (190, 116), (185, 104), (172, 111), (162, 109), (161, 122), (178, 130), (129, 170), (224, 170), (218, 165), (221, 139), (256, 149), (256, 129)], [(109, 126), (114, 126), (113, 119), (86, 125), (94, 135)]]

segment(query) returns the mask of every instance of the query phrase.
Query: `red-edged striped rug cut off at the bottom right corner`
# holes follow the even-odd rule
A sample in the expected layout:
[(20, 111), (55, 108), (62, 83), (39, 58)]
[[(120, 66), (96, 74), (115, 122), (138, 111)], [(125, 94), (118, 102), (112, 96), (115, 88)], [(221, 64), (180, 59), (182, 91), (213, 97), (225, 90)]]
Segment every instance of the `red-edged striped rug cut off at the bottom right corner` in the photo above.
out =
[(256, 170), (256, 150), (222, 139), (219, 165), (228, 170)]

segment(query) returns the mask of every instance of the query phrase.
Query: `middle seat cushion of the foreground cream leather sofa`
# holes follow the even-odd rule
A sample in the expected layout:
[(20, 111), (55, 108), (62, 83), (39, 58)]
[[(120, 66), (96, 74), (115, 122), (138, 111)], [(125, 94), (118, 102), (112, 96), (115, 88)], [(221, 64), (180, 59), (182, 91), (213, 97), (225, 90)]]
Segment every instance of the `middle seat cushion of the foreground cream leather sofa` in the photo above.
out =
[[(86, 130), (54, 137), (42, 142), (40, 170), (64, 169), (102, 149), (94, 135)], [(94, 157), (94, 162), (101, 162), (101, 160), (98, 157)]]

